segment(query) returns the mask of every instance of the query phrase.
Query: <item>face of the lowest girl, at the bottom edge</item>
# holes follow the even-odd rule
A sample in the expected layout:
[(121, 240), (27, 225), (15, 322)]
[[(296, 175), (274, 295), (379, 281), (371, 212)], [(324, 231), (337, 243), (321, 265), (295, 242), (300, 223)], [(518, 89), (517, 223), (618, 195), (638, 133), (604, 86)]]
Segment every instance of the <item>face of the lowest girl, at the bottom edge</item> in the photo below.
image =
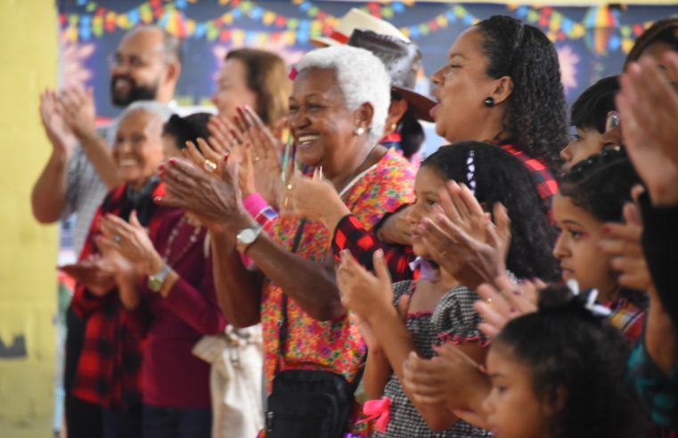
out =
[(487, 422), (497, 438), (544, 438), (547, 409), (535, 394), (532, 371), (508, 347), (492, 345), (487, 354), (492, 391), (483, 402)]

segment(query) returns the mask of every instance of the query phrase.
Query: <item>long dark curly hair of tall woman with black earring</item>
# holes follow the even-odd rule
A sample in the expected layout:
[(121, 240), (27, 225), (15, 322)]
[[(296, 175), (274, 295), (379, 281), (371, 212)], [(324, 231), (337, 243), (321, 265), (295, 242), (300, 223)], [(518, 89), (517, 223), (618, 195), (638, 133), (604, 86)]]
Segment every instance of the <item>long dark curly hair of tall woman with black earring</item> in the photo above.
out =
[(489, 77), (511, 77), (513, 91), (503, 128), (532, 158), (558, 174), (560, 150), (568, 145), (565, 94), (558, 53), (541, 30), (520, 20), (494, 15), (477, 25)]

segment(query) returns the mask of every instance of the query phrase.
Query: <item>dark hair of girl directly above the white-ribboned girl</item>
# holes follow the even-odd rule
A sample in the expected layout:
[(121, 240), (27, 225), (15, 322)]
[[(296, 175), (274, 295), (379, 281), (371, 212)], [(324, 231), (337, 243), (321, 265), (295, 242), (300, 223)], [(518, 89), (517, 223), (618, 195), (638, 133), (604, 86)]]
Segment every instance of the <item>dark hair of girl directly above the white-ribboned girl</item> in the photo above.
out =
[[(641, 184), (625, 150), (603, 150), (572, 167), (560, 181), (560, 194), (589, 212), (600, 222), (622, 222), (624, 206), (632, 200), (631, 189)], [(622, 288), (619, 296), (647, 308), (646, 293)]]

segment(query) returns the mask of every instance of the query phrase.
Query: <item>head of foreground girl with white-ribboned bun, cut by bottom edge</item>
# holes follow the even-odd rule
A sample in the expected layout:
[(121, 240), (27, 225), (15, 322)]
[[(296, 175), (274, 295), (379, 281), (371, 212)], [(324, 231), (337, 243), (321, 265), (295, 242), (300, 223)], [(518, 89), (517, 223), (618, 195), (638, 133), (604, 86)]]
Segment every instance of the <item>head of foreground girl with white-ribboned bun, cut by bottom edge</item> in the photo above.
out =
[(484, 407), (496, 437), (644, 436), (641, 405), (625, 383), (630, 345), (587, 298), (544, 289), (538, 312), (494, 337)]

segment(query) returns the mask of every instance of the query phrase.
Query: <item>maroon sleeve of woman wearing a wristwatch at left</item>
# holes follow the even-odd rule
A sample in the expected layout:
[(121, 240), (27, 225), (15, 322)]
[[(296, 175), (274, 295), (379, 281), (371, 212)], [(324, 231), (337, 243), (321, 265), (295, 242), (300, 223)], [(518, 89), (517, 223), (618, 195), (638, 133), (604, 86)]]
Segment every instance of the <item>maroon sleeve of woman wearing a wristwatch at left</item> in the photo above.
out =
[(165, 303), (199, 333), (216, 335), (224, 331), (226, 320), (216, 301), (211, 255), (205, 259), (203, 266), (204, 274), (199, 288), (184, 280), (182, 273), (177, 272), (179, 279), (169, 290)]

